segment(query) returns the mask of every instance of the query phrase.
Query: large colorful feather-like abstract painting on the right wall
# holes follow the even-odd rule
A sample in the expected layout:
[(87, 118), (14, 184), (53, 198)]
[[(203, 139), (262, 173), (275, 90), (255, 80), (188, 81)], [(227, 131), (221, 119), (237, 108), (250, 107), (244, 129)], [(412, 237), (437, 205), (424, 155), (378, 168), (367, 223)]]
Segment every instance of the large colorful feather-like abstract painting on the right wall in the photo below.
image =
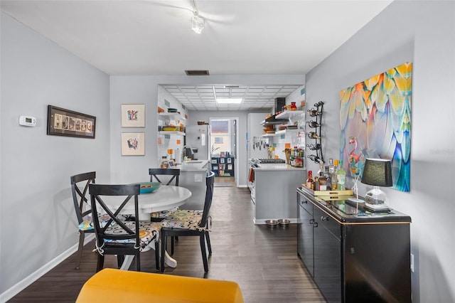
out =
[(412, 63), (340, 92), (340, 159), (360, 177), (366, 158), (392, 161), (393, 186), (410, 191)]

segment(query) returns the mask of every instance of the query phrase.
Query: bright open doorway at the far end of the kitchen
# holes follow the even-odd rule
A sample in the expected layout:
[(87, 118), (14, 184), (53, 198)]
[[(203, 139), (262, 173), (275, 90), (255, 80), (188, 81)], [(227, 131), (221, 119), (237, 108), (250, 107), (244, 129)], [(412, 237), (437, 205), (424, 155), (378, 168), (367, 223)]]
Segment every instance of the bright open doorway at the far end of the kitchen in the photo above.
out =
[(237, 182), (237, 120), (238, 118), (210, 118), (212, 171), (217, 187), (235, 187)]

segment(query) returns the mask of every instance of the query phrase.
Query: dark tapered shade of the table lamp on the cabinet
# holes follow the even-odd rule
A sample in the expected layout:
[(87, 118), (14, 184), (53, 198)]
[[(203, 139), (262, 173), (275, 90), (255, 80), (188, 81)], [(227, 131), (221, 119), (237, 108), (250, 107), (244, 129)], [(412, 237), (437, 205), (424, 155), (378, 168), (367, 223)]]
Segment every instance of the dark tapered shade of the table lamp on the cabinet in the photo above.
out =
[(387, 159), (366, 159), (361, 182), (373, 186), (392, 186), (392, 164)]

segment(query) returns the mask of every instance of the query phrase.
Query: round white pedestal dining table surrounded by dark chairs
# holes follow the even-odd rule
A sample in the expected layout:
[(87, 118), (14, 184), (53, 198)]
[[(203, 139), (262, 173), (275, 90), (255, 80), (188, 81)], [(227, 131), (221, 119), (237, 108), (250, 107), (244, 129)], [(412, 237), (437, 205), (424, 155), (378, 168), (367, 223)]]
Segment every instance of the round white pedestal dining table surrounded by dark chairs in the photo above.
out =
[[(141, 193), (138, 196), (139, 206), (139, 220), (151, 220), (151, 213), (156, 211), (168, 211), (177, 206), (181, 206), (188, 198), (191, 198), (191, 191), (183, 186), (173, 185), (161, 185), (154, 191), (149, 193)], [(120, 206), (122, 199), (116, 198), (115, 196), (109, 197), (109, 200), (105, 200), (105, 203), (116, 211), (116, 207)], [(134, 213), (134, 204), (129, 203), (121, 211), (121, 214), (132, 214)], [(152, 241), (149, 245), (144, 248), (144, 251), (155, 249), (155, 242)], [(125, 255), (121, 270), (128, 270), (129, 266), (133, 261), (134, 255)], [(164, 262), (169, 267), (175, 268), (177, 266), (177, 260), (173, 259), (168, 253), (164, 256)]]

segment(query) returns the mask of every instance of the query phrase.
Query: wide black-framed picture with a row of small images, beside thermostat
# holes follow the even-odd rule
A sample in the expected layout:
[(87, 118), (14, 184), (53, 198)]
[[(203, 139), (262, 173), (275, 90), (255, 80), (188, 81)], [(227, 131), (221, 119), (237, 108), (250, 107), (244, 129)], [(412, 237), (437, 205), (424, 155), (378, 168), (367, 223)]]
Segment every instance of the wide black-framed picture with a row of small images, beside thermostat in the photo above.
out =
[(96, 120), (94, 116), (48, 105), (47, 134), (95, 139)]

